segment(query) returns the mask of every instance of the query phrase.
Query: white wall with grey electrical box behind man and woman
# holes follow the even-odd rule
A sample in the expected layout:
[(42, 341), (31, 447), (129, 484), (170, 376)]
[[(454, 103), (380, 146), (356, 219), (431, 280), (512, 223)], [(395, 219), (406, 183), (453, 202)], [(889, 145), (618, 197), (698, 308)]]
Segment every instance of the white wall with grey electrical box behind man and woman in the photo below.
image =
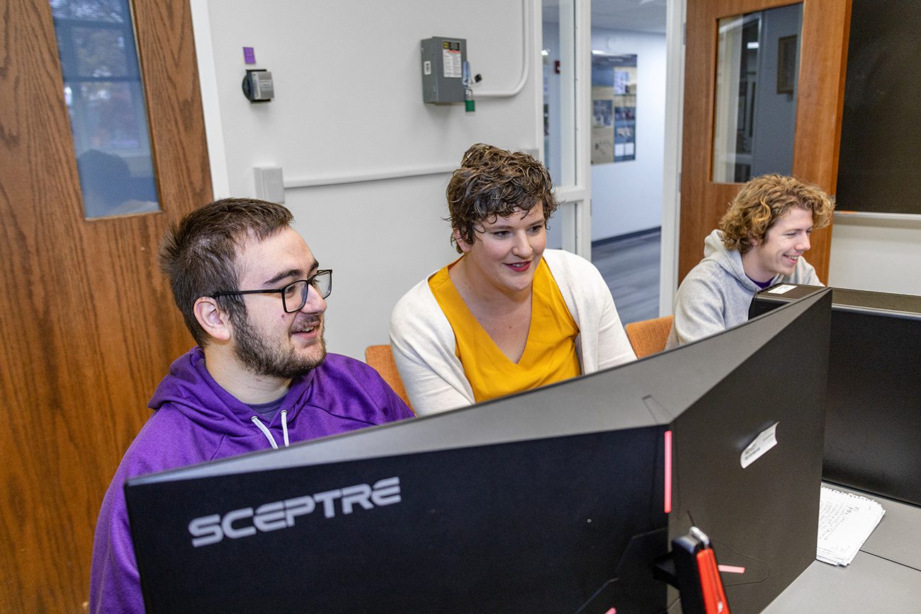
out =
[[(522, 6), (530, 4), (193, 0), (216, 197), (254, 195), (255, 166), (282, 167), (290, 184), (447, 171), (478, 141), (542, 147), (536, 58), (518, 96), (478, 100), (475, 113), (462, 104), (422, 102), (419, 41), (431, 36), (467, 39), (472, 71), (484, 76), (480, 87), (514, 87), (523, 61)], [(540, 16), (528, 15), (533, 32)], [(255, 48), (257, 64), (243, 63), (244, 46)], [(272, 102), (253, 105), (243, 97), (248, 67), (272, 71)], [(286, 190), (297, 230), (321, 265), (334, 270), (327, 311), (332, 352), (363, 358), (367, 345), (389, 342), (399, 297), (455, 257), (442, 220), (448, 179), (441, 172)]]

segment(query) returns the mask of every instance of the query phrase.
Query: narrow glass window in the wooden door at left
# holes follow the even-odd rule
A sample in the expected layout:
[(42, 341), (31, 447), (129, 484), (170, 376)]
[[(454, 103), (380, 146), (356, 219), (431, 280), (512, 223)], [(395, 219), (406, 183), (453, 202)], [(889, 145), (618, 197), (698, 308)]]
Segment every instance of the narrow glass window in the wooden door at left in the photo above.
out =
[(159, 211), (128, 0), (51, 0), (87, 217)]

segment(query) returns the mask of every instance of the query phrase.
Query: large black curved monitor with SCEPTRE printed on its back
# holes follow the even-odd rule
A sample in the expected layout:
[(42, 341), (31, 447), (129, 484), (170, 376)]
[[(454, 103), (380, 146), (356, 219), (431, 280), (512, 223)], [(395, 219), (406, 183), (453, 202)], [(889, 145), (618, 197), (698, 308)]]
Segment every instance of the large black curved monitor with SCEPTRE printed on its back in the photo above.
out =
[(730, 605), (764, 608), (815, 557), (828, 298), (547, 388), (130, 480), (147, 611), (659, 612), (653, 562), (692, 522), (745, 570), (724, 574)]

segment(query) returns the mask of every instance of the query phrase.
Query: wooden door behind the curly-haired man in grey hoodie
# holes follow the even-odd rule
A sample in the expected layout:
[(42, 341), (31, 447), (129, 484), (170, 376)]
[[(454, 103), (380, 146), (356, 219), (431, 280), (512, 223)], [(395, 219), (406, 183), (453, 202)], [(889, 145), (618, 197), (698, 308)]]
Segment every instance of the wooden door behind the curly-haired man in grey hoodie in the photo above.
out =
[[(679, 281), (704, 256), (704, 238), (717, 227), (740, 183), (711, 180), (717, 21), (787, 6), (789, 0), (687, 0), (682, 136)], [(834, 194), (844, 105), (850, 0), (803, 0), (793, 175)], [(806, 254), (828, 280), (832, 229), (812, 235)]]

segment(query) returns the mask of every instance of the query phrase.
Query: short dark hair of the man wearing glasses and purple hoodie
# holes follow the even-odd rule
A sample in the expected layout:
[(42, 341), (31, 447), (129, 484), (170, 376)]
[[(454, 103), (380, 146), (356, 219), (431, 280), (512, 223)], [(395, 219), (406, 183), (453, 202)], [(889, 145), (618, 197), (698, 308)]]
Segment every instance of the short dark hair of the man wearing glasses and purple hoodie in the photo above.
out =
[[(160, 241), (160, 269), (169, 278), (176, 307), (195, 342), (204, 347), (209, 335), (195, 319), (195, 301), (220, 291), (238, 290), (239, 250), (250, 237), (271, 237), (293, 220), (281, 204), (249, 198), (208, 203), (172, 224)], [(242, 296), (218, 296), (217, 305), (231, 319), (246, 319)]]

